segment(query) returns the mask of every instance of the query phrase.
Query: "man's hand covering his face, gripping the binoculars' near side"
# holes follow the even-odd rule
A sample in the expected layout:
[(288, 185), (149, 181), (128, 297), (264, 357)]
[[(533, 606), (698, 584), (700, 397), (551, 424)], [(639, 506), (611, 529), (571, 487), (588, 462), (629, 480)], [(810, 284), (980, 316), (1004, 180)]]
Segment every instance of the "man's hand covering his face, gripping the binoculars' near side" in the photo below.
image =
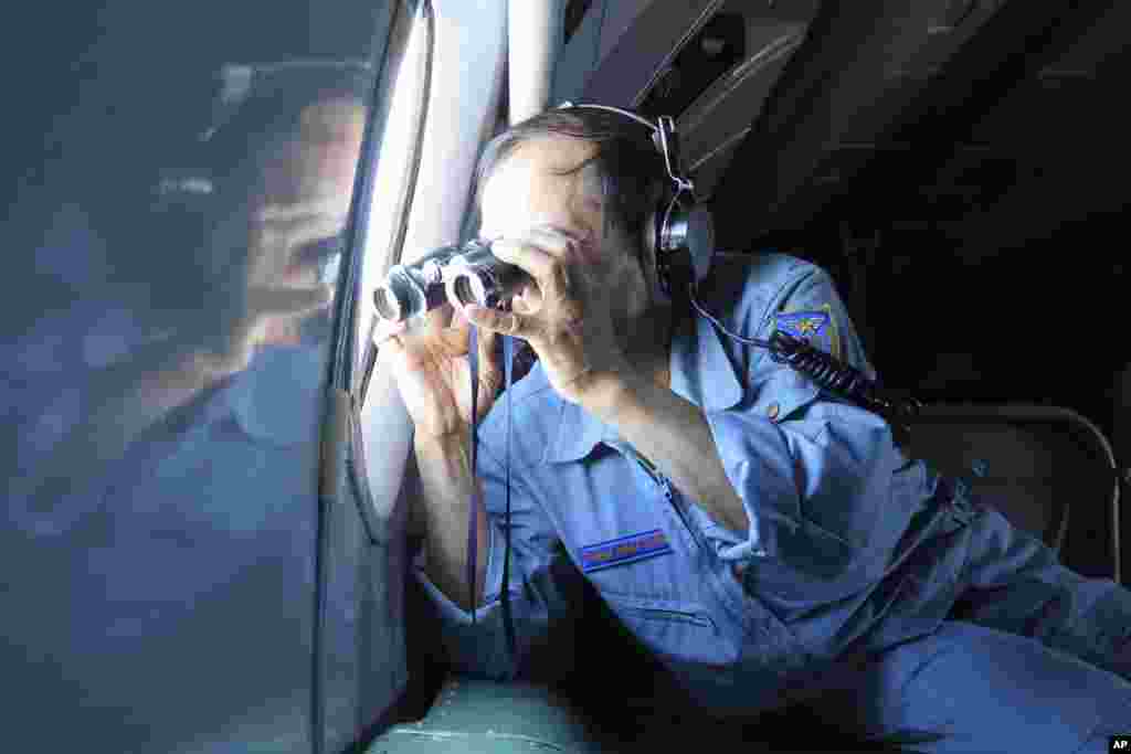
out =
[[(461, 307), (473, 324), (529, 343), (550, 384), (572, 404), (594, 398), (631, 373), (614, 331), (613, 292), (595, 239), (537, 227), (495, 242), (491, 251), (521, 268), (535, 285), (515, 296), (509, 313)], [(460, 307), (451, 281), (448, 300)]]

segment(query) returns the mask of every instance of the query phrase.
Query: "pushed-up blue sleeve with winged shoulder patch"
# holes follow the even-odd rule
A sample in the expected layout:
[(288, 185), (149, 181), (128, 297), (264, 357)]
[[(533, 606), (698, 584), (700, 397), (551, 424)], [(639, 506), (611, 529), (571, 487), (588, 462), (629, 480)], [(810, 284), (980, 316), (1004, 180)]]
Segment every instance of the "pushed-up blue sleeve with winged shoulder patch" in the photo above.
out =
[[(827, 315), (827, 318), (826, 318)], [(829, 275), (812, 265), (778, 292), (760, 335), (808, 333), (818, 348), (875, 379)], [(760, 359), (740, 407), (709, 413), (724, 469), (743, 502), (749, 535), (729, 532), (720, 560), (770, 558), (831, 578), (873, 536), (899, 462), (880, 417), (824, 396), (806, 376)], [(821, 556), (817, 556), (819, 553)]]

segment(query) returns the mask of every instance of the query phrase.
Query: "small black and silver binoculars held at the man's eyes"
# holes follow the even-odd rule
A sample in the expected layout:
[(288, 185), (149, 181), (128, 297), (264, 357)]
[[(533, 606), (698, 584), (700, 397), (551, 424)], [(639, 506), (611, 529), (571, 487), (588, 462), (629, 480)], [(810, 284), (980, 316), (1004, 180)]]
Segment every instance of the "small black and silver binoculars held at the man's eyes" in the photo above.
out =
[(491, 253), (491, 244), (469, 241), (461, 246), (441, 246), (412, 265), (396, 265), (373, 292), (377, 313), (400, 322), (420, 317), (448, 301), (446, 285), (460, 304), (478, 304), (509, 311), (510, 301), (532, 283), (521, 268)]

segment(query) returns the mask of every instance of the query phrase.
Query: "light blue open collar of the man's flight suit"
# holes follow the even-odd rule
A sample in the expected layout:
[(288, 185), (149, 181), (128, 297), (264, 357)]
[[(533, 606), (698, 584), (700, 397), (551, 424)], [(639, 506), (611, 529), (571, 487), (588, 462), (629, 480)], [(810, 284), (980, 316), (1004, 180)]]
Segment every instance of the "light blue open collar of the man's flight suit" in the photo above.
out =
[[(537, 365), (541, 367), (541, 364)], [(705, 411), (722, 411), (742, 400), (742, 384), (719, 340), (703, 317), (684, 319), (672, 339), (668, 361), (672, 390)], [(560, 400), (560, 399), (559, 399)], [(561, 463), (588, 456), (597, 443), (620, 442), (616, 430), (577, 404), (561, 400), (556, 437), (546, 445), (543, 462)]]

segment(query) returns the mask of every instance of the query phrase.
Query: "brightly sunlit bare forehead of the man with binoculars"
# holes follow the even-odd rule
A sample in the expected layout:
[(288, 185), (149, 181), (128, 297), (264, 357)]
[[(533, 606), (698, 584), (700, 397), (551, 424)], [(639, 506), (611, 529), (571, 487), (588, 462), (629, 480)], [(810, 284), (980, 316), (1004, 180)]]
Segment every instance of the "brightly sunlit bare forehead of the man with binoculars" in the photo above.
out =
[(596, 198), (594, 171), (577, 168), (597, 151), (592, 141), (566, 136), (537, 137), (516, 146), (485, 176), (482, 233), (502, 235), (519, 225), (552, 220), (578, 198)]

